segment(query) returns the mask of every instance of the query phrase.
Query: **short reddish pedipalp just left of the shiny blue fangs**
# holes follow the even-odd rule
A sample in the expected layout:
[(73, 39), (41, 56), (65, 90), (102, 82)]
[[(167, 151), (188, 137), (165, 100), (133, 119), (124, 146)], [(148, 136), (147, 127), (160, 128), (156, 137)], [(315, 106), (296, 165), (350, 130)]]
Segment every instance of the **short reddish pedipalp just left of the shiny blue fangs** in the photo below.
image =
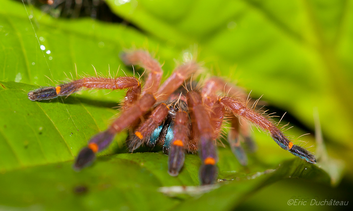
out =
[[(147, 119), (140, 123), (137, 129), (134, 130), (133, 137), (126, 141), (130, 152), (134, 152), (143, 143), (153, 147), (156, 143), (151, 143), (151, 134), (160, 127), (169, 113), (169, 108), (166, 104), (160, 103), (152, 111)], [(152, 138), (154, 140), (154, 138)]]

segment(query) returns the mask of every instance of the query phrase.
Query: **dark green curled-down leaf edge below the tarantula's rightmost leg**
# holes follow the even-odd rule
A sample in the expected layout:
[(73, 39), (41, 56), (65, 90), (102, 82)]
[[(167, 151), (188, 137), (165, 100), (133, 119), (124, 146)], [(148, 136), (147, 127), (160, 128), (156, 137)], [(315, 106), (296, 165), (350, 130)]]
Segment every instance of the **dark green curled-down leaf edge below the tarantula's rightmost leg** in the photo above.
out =
[[(267, 171), (269, 172), (269, 171)], [(271, 171), (270, 171), (271, 172)], [(241, 204), (248, 196), (257, 189), (270, 185), (271, 183), (284, 178), (305, 178), (327, 184), (330, 177), (316, 166), (305, 161), (295, 159), (281, 164), (274, 172), (257, 172), (238, 178), (234, 182), (226, 182), (213, 192), (206, 193), (199, 198), (190, 198), (185, 203), (180, 204), (175, 210), (231, 210)]]

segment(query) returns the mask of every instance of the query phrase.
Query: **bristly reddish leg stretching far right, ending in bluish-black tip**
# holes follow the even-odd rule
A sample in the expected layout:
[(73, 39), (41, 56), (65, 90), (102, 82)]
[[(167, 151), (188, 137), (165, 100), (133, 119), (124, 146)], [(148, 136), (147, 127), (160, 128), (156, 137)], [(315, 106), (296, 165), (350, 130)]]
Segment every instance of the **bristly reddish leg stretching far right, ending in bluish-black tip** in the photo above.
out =
[(309, 153), (300, 146), (294, 145), (293, 142), (288, 140), (288, 138), (273, 124), (272, 121), (267, 119), (265, 116), (260, 115), (258, 112), (247, 108), (244, 102), (229, 96), (219, 98), (219, 102), (225, 106), (229, 113), (244, 117), (259, 126), (261, 129), (269, 131), (271, 137), (282, 149), (288, 150), (290, 153), (306, 160), (309, 163), (316, 163), (316, 158), (313, 154)]

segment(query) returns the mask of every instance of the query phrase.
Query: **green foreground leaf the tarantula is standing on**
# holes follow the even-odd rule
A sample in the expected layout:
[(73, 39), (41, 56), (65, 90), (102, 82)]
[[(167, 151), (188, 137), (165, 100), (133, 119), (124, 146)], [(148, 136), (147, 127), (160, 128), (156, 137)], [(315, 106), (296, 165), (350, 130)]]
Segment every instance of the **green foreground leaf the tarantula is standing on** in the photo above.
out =
[[(255, 173), (268, 172), (269, 167), (276, 166), (270, 163), (278, 163), (277, 154), (273, 157), (266, 154), (274, 151), (271, 148), (284, 155), (280, 160), (293, 157), (290, 153), (279, 150), (275, 144), (269, 148), (265, 143), (259, 147), (265, 149), (263, 153), (267, 156), (266, 159), (251, 156), (246, 171), (244, 168), (241, 170), (242, 167), (235, 161), (230, 149), (219, 149), (219, 177), (236, 179), (236, 182), (224, 183), (219, 189), (201, 198), (171, 198), (158, 192), (158, 187), (198, 185), (198, 156), (187, 155), (182, 172), (177, 177), (171, 177), (167, 173), (165, 154), (109, 155), (118, 150), (124, 135), (118, 136), (117, 142), (101, 154), (109, 156), (98, 157), (92, 167), (76, 173), (71, 168), (73, 155), (85, 145), (86, 136), (97, 133), (98, 126), (95, 122), (101, 124), (104, 117), (108, 119), (112, 115), (112, 109), (106, 108), (109, 104), (82, 96), (33, 102), (27, 99), (27, 92), (33, 89), (32, 85), (16, 82), (0, 82), (0, 85), (0, 96), (3, 100), (0, 112), (4, 114), (0, 117), (0, 204), (4, 208), (20, 206), (42, 210), (146, 210), (148, 206), (154, 210), (169, 210), (175, 206), (184, 209), (196, 200), (197, 209), (204, 209), (209, 205), (199, 205), (203, 200), (209, 201), (211, 197), (212, 203), (217, 200), (223, 204), (217, 206), (216, 210), (223, 210), (225, 207), (239, 205), (242, 197), (282, 178), (292, 176), (330, 183), (327, 173), (298, 158), (281, 164), (271, 176)], [(257, 140), (266, 139), (264, 134), (257, 133), (256, 136)], [(263, 155), (259, 153), (258, 156)], [(259, 163), (260, 159), (265, 163)], [(238, 181), (239, 178), (241, 182)], [(233, 186), (237, 188), (230, 189)], [(230, 190), (235, 190), (236, 193), (229, 194)], [(219, 192), (222, 194), (219, 195)], [(58, 198), (61, 200), (58, 201)], [(160, 201), (165, 203), (160, 205)]]

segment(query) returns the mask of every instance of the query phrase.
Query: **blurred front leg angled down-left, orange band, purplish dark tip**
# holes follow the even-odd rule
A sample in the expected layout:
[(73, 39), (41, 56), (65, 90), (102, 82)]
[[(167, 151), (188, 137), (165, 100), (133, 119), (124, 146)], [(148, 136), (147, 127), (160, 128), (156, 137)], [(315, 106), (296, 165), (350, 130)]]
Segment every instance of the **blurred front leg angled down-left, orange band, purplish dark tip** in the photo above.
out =
[(106, 149), (113, 141), (115, 134), (136, 124), (139, 118), (145, 115), (156, 101), (156, 98), (151, 93), (141, 96), (136, 104), (123, 111), (106, 131), (98, 133), (88, 141), (88, 146), (78, 153), (73, 166), (74, 169), (79, 171), (83, 167), (90, 165), (96, 157), (95, 154)]

